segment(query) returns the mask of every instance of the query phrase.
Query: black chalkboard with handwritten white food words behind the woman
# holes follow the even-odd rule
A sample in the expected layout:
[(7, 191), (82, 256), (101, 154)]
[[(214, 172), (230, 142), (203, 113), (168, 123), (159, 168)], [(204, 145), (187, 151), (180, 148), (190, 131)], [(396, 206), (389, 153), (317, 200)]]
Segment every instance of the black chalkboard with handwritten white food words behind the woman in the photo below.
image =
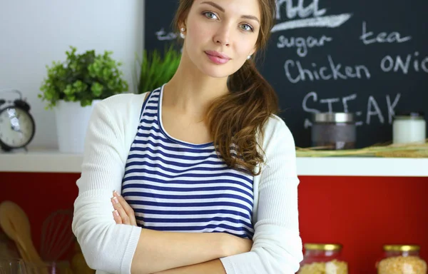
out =
[[(145, 47), (163, 49), (178, 0), (146, 1)], [(258, 68), (280, 98), (296, 145), (310, 146), (312, 113), (352, 112), (357, 147), (392, 140), (397, 111), (428, 117), (427, 0), (277, 0)]]

